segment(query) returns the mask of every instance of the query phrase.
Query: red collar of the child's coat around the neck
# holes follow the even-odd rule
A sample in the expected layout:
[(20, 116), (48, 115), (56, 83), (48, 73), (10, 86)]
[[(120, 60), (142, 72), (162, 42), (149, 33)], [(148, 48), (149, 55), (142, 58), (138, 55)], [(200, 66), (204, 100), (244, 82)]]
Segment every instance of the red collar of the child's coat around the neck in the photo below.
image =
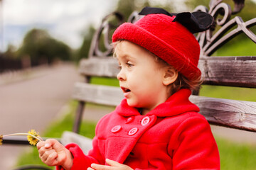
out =
[[(171, 95), (166, 102), (161, 103), (159, 106), (156, 106), (152, 111), (146, 115), (156, 115), (158, 117), (168, 117), (179, 115), (188, 111), (199, 111), (198, 106), (191, 103), (188, 100), (191, 96), (191, 90), (181, 89), (175, 94)], [(127, 99), (123, 99), (121, 104), (117, 106), (116, 111), (119, 115), (122, 116), (132, 116), (139, 115), (137, 108), (132, 108), (127, 104)]]

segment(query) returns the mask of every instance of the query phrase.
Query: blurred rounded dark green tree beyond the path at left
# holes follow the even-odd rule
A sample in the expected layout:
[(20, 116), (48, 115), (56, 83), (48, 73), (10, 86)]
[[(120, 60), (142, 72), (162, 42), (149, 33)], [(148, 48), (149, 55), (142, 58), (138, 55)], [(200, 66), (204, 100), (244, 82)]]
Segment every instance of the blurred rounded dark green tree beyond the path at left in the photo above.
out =
[(54, 60), (70, 60), (70, 47), (51, 38), (46, 30), (32, 29), (18, 49), (20, 57), (29, 56), (33, 65), (52, 63)]

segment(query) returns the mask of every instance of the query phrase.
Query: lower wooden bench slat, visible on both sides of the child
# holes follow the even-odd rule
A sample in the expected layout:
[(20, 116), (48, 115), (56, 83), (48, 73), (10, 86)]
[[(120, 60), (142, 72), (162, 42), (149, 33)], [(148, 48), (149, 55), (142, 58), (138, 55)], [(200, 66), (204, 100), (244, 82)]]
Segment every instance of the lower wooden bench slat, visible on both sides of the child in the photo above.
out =
[[(117, 106), (124, 96), (119, 87), (76, 83), (73, 98), (79, 101)], [(256, 102), (191, 96), (200, 113), (211, 124), (256, 132)]]

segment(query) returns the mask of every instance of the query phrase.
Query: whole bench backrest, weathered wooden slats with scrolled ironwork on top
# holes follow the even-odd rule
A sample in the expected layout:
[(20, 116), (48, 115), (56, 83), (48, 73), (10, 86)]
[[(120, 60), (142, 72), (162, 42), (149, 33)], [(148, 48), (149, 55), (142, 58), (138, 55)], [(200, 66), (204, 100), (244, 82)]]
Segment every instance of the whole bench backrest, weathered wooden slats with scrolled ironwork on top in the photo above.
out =
[[(198, 6), (195, 9), (195, 11), (210, 13), (215, 18), (215, 24), (220, 26), (219, 30), (212, 28), (196, 35), (201, 45), (201, 58), (198, 67), (202, 72), (203, 84), (256, 88), (256, 56), (211, 56), (225, 42), (240, 33), (245, 33), (248, 38), (256, 42), (256, 36), (250, 30), (250, 27), (256, 25), (256, 18), (246, 22), (242, 21), (239, 16), (230, 19), (232, 14), (238, 13), (242, 9), (243, 4), (235, 4), (235, 10), (231, 11), (228, 4), (220, 1), (212, 2), (215, 3), (210, 4), (209, 9), (206, 6)], [(119, 72), (117, 61), (113, 59), (110, 47), (109, 34), (113, 25), (110, 24), (108, 19), (112, 16), (116, 16), (119, 23), (123, 22), (119, 13), (112, 13), (104, 18), (92, 40), (88, 59), (80, 61), (80, 74), (85, 77), (85, 82), (75, 84), (73, 98), (80, 101), (73, 129), (75, 132), (79, 131), (85, 102), (117, 106), (123, 98), (119, 87), (90, 84), (90, 77), (114, 78)], [(220, 16), (222, 16), (221, 19)], [(134, 12), (127, 22), (137, 21), (138, 18), (138, 14)], [(234, 26), (237, 27), (233, 28)], [(100, 45), (102, 44), (104, 50), (101, 50)], [(193, 94), (198, 94), (198, 91)], [(256, 102), (196, 95), (191, 96), (191, 101), (201, 108), (200, 113), (211, 124), (256, 132)]]

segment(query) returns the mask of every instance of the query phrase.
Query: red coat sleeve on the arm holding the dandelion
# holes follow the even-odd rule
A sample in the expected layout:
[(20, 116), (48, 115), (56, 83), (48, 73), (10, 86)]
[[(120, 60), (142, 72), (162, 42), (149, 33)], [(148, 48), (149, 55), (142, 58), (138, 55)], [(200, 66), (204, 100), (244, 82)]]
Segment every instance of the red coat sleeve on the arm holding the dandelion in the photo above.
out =
[[(92, 163), (102, 164), (102, 156), (97, 147), (97, 138), (92, 140), (93, 149), (88, 155), (82, 152), (82, 149), (75, 143), (70, 143), (65, 147), (73, 154), (73, 166), (71, 170), (86, 170)], [(105, 163), (103, 163), (105, 164)], [(56, 167), (57, 170), (64, 170), (61, 166)]]

